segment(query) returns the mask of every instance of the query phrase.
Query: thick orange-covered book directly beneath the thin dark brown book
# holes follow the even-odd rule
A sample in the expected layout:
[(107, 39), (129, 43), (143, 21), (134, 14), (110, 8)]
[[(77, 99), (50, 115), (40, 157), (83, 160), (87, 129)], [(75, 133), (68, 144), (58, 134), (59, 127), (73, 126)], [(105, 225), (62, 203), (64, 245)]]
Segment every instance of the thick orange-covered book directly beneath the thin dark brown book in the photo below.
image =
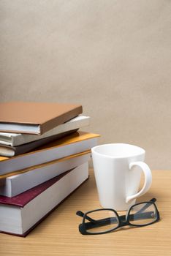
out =
[(20, 170), (27, 167), (86, 151), (97, 145), (98, 138), (99, 135), (94, 133), (74, 132), (29, 153), (16, 157), (0, 157), (0, 178), (7, 173), (19, 174)]

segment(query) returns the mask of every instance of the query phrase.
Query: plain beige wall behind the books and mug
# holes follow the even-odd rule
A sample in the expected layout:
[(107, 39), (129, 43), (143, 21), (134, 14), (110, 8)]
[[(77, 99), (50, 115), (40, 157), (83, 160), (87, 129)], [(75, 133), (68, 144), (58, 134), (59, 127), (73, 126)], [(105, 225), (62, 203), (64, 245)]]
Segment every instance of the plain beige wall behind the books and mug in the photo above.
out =
[(100, 143), (170, 169), (171, 2), (1, 0), (0, 100), (80, 102)]

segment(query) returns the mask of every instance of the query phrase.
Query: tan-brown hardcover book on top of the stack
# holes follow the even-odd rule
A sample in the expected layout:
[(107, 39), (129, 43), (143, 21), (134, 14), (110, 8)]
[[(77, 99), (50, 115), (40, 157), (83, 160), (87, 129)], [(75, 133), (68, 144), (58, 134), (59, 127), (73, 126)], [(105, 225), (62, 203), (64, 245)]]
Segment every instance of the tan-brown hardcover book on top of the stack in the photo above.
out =
[(0, 109), (0, 132), (37, 135), (83, 112), (82, 105), (50, 102), (2, 102)]

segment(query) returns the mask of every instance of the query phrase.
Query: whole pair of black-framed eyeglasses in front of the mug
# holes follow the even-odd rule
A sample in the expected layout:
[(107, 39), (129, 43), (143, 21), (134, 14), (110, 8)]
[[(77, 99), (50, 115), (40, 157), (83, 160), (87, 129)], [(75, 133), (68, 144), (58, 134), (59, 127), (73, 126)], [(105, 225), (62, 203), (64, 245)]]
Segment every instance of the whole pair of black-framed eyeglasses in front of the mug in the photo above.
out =
[(110, 208), (96, 209), (85, 214), (82, 211), (77, 211), (76, 214), (83, 217), (79, 231), (83, 235), (98, 235), (109, 233), (126, 225), (135, 227), (151, 225), (160, 219), (154, 202), (156, 202), (156, 198), (148, 202), (136, 203), (129, 208), (126, 215), (121, 216)]

